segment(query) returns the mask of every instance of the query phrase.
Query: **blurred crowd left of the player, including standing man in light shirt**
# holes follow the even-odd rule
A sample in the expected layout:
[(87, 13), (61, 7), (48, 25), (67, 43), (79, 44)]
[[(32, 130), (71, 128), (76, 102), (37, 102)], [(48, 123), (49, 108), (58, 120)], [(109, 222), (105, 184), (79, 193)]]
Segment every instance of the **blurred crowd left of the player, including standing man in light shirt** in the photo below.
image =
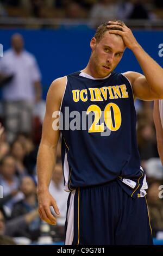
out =
[(60, 209), (57, 226), (42, 222), (37, 210), (36, 157), (45, 101), (39, 65), (21, 34), (12, 35), (11, 48), (1, 58), (0, 84), (0, 245), (63, 241), (68, 193), (63, 190), (60, 142), (49, 185)]

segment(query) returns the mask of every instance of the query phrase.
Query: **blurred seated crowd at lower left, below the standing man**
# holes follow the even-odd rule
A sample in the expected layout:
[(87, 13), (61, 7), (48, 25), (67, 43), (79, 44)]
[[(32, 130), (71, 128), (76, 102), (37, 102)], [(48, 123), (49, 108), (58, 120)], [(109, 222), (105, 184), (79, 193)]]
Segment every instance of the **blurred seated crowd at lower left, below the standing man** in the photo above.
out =
[[(57, 164), (49, 185), (49, 191), (57, 200), (60, 209), (57, 227), (55, 227), (42, 222), (37, 210), (38, 144), (35, 144), (33, 137), (27, 133), (18, 133), (14, 142), (10, 144), (7, 141), (6, 132), (3, 132), (0, 141), (0, 185), (3, 187), (3, 198), (0, 199), (0, 245), (8, 244), (6, 237), (17, 237), (17, 240), (12, 242), (18, 244), (22, 244), (18, 237), (23, 237), (23, 244), (39, 241), (39, 239), (40, 242), (46, 243), (46, 240), (41, 240), (45, 237), (51, 237), (51, 242), (64, 241), (68, 193), (63, 190), (60, 147), (59, 143)], [(2, 237), (3, 240), (1, 240)]]

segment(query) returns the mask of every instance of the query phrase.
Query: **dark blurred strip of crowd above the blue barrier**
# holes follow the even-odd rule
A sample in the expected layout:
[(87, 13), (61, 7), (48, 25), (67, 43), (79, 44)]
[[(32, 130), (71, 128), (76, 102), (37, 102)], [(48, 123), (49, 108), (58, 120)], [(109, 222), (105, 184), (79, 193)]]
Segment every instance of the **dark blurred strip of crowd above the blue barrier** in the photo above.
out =
[(1, 0), (2, 17), (163, 19), (162, 0)]

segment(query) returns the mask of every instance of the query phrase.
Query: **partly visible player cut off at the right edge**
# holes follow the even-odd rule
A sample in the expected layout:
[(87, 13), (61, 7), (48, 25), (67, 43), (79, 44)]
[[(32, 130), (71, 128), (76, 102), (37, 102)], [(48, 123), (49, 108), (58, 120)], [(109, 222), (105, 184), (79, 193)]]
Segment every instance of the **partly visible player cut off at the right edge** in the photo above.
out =
[(158, 143), (158, 152), (163, 166), (163, 101), (154, 101), (153, 119)]

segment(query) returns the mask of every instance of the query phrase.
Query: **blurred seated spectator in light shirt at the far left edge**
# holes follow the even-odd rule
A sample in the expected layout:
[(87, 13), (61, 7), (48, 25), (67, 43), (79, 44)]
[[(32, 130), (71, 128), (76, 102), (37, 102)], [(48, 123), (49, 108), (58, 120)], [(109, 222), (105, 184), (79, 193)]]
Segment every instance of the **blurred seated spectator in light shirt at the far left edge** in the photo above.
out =
[(20, 181), (16, 176), (15, 159), (11, 155), (4, 156), (1, 161), (0, 185), (3, 186), (3, 194), (6, 199), (3, 209), (5, 214), (10, 217), (12, 206), (23, 197), (22, 193), (18, 192)]

